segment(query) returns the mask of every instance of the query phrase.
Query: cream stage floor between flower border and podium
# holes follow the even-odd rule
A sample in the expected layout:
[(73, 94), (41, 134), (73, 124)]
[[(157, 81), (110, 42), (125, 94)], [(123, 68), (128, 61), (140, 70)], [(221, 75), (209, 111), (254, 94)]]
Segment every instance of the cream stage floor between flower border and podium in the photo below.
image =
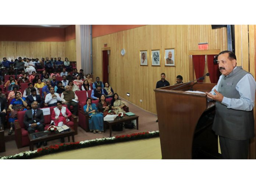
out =
[(159, 137), (75, 149), (35, 159), (161, 159)]

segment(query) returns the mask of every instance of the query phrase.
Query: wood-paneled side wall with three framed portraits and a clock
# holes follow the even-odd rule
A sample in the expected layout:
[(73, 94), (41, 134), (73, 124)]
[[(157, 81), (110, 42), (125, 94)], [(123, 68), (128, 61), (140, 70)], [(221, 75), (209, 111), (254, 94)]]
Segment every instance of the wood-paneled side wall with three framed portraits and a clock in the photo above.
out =
[[(189, 51), (198, 50), (198, 43), (205, 42), (209, 44), (209, 50), (226, 50), (226, 32), (226, 28), (211, 29), (211, 25), (147, 25), (96, 37), (93, 38), (93, 76), (103, 77), (102, 50), (107, 43), (110, 47), (109, 82), (114, 92), (156, 113), (153, 89), (160, 74), (166, 73), (170, 84), (176, 83), (177, 75), (182, 75), (183, 81), (188, 82), (191, 80)], [(124, 56), (120, 54), (122, 48), (126, 50)], [(164, 66), (165, 48), (175, 48), (175, 67)], [(160, 49), (161, 66), (151, 66), (152, 49)], [(148, 66), (140, 66), (139, 50), (148, 51)]]

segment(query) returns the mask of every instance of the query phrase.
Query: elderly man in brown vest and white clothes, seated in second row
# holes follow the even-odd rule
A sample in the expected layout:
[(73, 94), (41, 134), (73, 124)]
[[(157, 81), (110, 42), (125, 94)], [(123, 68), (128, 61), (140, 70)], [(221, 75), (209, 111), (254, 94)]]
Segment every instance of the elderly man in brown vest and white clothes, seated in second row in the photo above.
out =
[(61, 93), (61, 101), (64, 104), (67, 104), (68, 109), (70, 109), (70, 106), (72, 105), (74, 108), (74, 115), (77, 115), (77, 111), (78, 111), (78, 102), (74, 102), (73, 100), (78, 101), (78, 97), (75, 94), (74, 91), (71, 91), (70, 86), (65, 86), (65, 91), (63, 93)]

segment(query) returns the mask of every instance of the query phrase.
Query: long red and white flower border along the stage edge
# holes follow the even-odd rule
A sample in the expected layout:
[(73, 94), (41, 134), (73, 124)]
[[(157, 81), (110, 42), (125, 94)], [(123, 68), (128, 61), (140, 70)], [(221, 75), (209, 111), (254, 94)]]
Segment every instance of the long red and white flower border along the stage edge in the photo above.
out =
[(50, 145), (49, 147), (45, 148), (39, 148), (35, 151), (25, 151), (11, 156), (0, 156), (0, 159), (30, 159), (35, 158), (36, 156), (42, 156), (55, 152), (67, 151), (71, 149), (86, 148), (102, 144), (111, 144), (116, 142), (125, 142), (152, 137), (159, 137), (159, 131), (139, 132), (115, 137), (96, 138), (93, 140), (86, 140), (80, 142), (61, 143), (56, 145)]

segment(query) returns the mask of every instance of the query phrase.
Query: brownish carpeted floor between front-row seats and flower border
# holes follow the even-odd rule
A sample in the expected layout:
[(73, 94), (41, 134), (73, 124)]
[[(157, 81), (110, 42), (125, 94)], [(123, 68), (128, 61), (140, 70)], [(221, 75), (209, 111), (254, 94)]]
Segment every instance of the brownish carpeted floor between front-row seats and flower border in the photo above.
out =
[[(122, 99), (123, 100), (123, 99)], [(129, 111), (135, 113), (139, 116), (139, 130), (136, 129), (123, 129), (123, 131), (112, 131), (112, 136), (121, 136), (124, 134), (131, 134), (136, 132), (144, 132), (144, 131), (156, 131), (159, 130), (158, 123), (156, 123), (157, 115), (147, 112), (144, 109), (141, 109), (128, 101), (125, 101), (125, 104), (129, 107)], [(8, 130), (5, 130), (5, 139), (6, 139), (6, 152), (1, 152), (0, 156), (9, 156), (15, 155), (22, 151), (28, 151), (29, 146), (18, 149), (14, 140), (14, 133), (11, 136), (7, 135)], [(109, 137), (109, 129), (106, 130), (105, 133), (102, 134), (93, 134), (90, 132), (85, 132), (81, 127), (78, 127), (78, 135), (75, 136), (75, 141), (84, 141), (84, 140), (92, 140), (95, 138), (103, 138)], [(65, 138), (67, 141), (67, 138)], [(60, 144), (60, 140), (48, 141), (48, 145)], [(159, 144), (160, 146), (160, 144)], [(36, 147), (34, 147), (36, 149)]]

